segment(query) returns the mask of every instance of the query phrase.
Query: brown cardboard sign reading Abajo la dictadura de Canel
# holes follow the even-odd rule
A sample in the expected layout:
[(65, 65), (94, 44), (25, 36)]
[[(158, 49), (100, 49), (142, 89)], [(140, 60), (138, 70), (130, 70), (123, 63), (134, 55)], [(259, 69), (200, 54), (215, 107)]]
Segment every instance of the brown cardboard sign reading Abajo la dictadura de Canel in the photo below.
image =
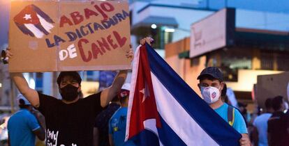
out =
[(12, 1), (10, 72), (123, 70), (127, 1)]

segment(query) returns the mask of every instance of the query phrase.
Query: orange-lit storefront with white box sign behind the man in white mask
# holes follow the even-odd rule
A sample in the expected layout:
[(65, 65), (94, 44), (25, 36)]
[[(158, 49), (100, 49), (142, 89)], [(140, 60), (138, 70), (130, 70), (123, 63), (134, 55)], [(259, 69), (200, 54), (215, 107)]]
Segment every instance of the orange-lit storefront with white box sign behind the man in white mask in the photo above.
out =
[(221, 68), (237, 99), (250, 104), (258, 75), (289, 70), (289, 35), (238, 28), (236, 15), (235, 9), (223, 9), (192, 24), (190, 38), (165, 46), (165, 59), (198, 94), (202, 69)]

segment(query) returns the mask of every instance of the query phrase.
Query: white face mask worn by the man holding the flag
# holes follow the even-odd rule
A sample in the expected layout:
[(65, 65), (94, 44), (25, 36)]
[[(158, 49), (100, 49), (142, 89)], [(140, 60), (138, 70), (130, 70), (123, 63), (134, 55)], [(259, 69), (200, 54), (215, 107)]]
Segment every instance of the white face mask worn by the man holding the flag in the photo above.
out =
[(214, 104), (220, 97), (220, 91), (215, 87), (201, 87), (202, 98), (207, 104)]

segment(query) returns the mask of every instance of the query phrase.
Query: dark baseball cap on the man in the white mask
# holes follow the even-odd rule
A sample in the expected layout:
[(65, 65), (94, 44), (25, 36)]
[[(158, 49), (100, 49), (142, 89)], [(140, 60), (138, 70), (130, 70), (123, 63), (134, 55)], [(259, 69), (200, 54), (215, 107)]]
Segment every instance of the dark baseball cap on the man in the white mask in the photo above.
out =
[(215, 79), (223, 81), (223, 74), (221, 70), (218, 69), (218, 67), (206, 67), (204, 70), (202, 70), (197, 79), (200, 79), (202, 76), (205, 75), (213, 76)]

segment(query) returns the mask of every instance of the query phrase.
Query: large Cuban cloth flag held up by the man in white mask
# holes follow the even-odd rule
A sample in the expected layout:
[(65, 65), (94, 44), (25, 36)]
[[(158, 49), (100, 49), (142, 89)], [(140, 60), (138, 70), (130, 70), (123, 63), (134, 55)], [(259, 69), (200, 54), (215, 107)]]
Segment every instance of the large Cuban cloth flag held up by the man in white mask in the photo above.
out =
[(239, 145), (225, 122), (145, 44), (135, 51), (126, 140), (137, 145)]

